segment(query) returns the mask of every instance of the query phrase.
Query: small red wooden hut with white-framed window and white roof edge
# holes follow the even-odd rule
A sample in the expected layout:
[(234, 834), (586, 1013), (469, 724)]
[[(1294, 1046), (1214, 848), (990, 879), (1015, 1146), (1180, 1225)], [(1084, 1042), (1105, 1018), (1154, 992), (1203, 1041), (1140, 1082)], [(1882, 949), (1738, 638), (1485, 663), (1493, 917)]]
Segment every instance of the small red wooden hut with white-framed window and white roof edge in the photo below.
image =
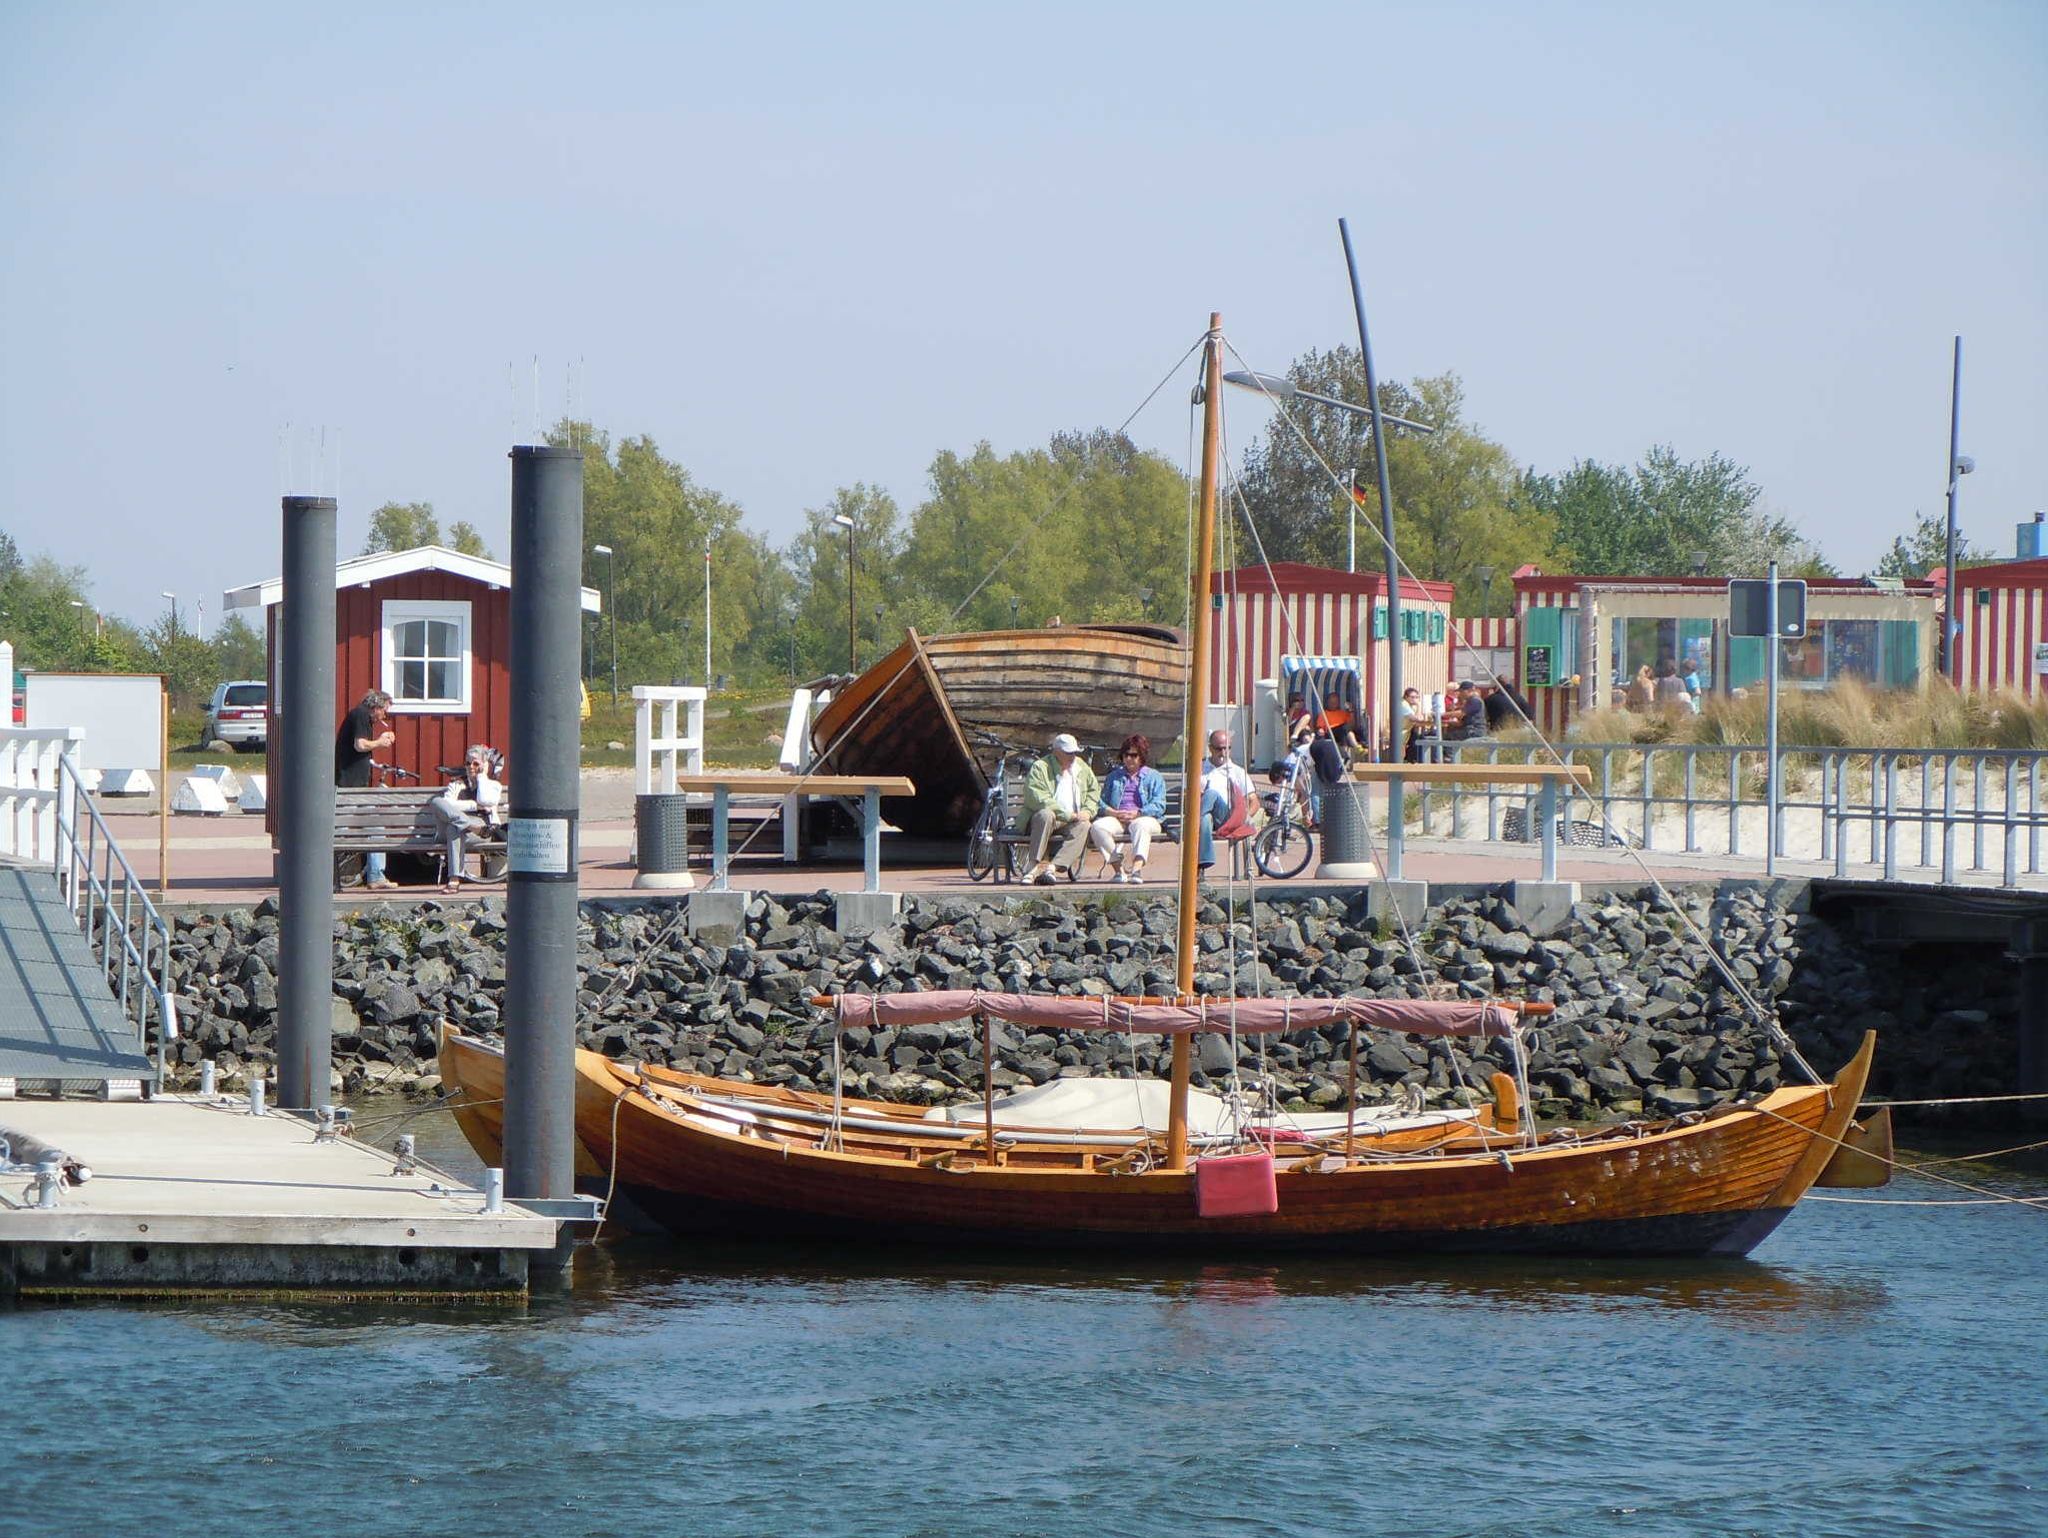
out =
[[(276, 688), (279, 600), (285, 580), (231, 588), (225, 608), (264, 612), (270, 715), (291, 709)], [(586, 612), (598, 590), (584, 588)], [(512, 567), (438, 545), (358, 555), (334, 567), (334, 729), (362, 696), (391, 696), (397, 745), (381, 760), (432, 784), (436, 766), (461, 764), (473, 741), (504, 747), (512, 731)], [(276, 731), (266, 731), (268, 770), (276, 774)], [(276, 831), (276, 803), (264, 825)]]

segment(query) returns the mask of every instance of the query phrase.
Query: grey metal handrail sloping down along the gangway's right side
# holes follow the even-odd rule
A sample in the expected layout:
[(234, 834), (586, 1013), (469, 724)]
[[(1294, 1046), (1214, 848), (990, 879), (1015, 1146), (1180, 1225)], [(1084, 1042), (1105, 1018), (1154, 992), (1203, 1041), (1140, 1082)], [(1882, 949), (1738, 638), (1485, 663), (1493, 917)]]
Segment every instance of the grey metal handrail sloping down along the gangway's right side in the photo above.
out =
[[(84, 844), (78, 838), (78, 807), (86, 809)], [(121, 1014), (135, 1022), (135, 1042), (145, 1055), (152, 1003), (156, 1006), (156, 1087), (162, 1090), (170, 1042), (178, 1040), (178, 1001), (170, 987), (170, 922), (150, 901), (121, 854), (70, 754), (57, 760), (55, 811), (57, 889), (92, 944)], [(115, 934), (121, 938), (119, 946), (113, 942)]]

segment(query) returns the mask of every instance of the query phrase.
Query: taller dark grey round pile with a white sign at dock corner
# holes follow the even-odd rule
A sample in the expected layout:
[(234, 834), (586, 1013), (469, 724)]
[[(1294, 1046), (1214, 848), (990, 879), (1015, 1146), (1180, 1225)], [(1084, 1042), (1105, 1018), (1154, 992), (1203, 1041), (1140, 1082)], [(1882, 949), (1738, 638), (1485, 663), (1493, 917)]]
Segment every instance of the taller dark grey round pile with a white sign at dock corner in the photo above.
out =
[[(578, 571), (584, 453), (512, 451), (512, 737), (506, 838), (506, 1192), (573, 1196)], [(563, 1270), (567, 1247), (537, 1257)]]

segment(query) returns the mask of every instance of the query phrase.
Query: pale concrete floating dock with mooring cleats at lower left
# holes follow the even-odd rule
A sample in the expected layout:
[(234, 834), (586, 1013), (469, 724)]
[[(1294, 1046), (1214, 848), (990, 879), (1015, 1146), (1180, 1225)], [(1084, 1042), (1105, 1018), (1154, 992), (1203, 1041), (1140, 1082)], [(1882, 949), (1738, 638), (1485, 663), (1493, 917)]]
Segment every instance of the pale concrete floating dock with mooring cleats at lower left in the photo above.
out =
[(0, 1176), (0, 1298), (522, 1296), (528, 1259), (557, 1243), (555, 1216), (485, 1212), (446, 1171), (397, 1173), (379, 1147), (233, 1096), (10, 1100), (6, 1135), (90, 1180), (43, 1208), (33, 1173)]

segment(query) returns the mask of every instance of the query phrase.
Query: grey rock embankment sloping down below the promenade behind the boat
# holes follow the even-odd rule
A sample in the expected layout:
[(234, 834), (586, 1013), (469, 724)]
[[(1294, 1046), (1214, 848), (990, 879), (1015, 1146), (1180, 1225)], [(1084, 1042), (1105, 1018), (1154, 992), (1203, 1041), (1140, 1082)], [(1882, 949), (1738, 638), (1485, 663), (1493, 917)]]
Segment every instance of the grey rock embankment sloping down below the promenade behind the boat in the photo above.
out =
[[(1556, 1003), (1534, 1034), (1530, 1083), (1550, 1118), (1671, 1114), (1767, 1090), (1792, 1069), (1741, 997), (1776, 1016), (1821, 1071), (1866, 1026), (1886, 1034), (1878, 1094), (1987, 1094), (2011, 1077), (2015, 983), (1997, 967), (1927, 969), (1913, 952), (1864, 946), (1790, 911), (1778, 893), (1729, 885), (1581, 903), (1532, 938), (1499, 897), (1432, 907), (1389, 934), (1362, 901), (1307, 897), (1225, 911), (1204, 903), (1196, 989), (1509, 995)], [(1729, 963), (1706, 956), (1710, 936)], [(432, 1092), (442, 1020), (498, 1034), (504, 907), (420, 903), (336, 924), (334, 1046), (346, 1090)], [(905, 899), (897, 930), (842, 938), (831, 899), (754, 897), (743, 930), (686, 934), (676, 903), (586, 903), (578, 1038), (612, 1057), (688, 1071), (829, 1087), (831, 1032), (807, 999), (831, 991), (983, 987), (1159, 993), (1174, 983), (1165, 901), (1108, 893), (1083, 901)], [(276, 911), (264, 903), (178, 920), (172, 940), (184, 1040), (176, 1063), (215, 1059), (233, 1081), (268, 1067), (276, 1044)], [(2009, 969), (2007, 969), (2009, 971)], [(846, 1034), (856, 1094), (944, 1102), (981, 1094), (981, 1042), (965, 1024)], [(1241, 1073), (1292, 1108), (1341, 1106), (1341, 1030), (1247, 1038)], [(1360, 1051), (1360, 1098), (1419, 1090), (1430, 1102), (1485, 1094), (1503, 1044), (1376, 1036)], [(1075, 1075), (1163, 1077), (1157, 1036), (995, 1030), (995, 1083)], [(1231, 1073), (1231, 1042), (1198, 1042), (1196, 1083)], [(1911, 1090), (1898, 1087), (1911, 1085)]]

